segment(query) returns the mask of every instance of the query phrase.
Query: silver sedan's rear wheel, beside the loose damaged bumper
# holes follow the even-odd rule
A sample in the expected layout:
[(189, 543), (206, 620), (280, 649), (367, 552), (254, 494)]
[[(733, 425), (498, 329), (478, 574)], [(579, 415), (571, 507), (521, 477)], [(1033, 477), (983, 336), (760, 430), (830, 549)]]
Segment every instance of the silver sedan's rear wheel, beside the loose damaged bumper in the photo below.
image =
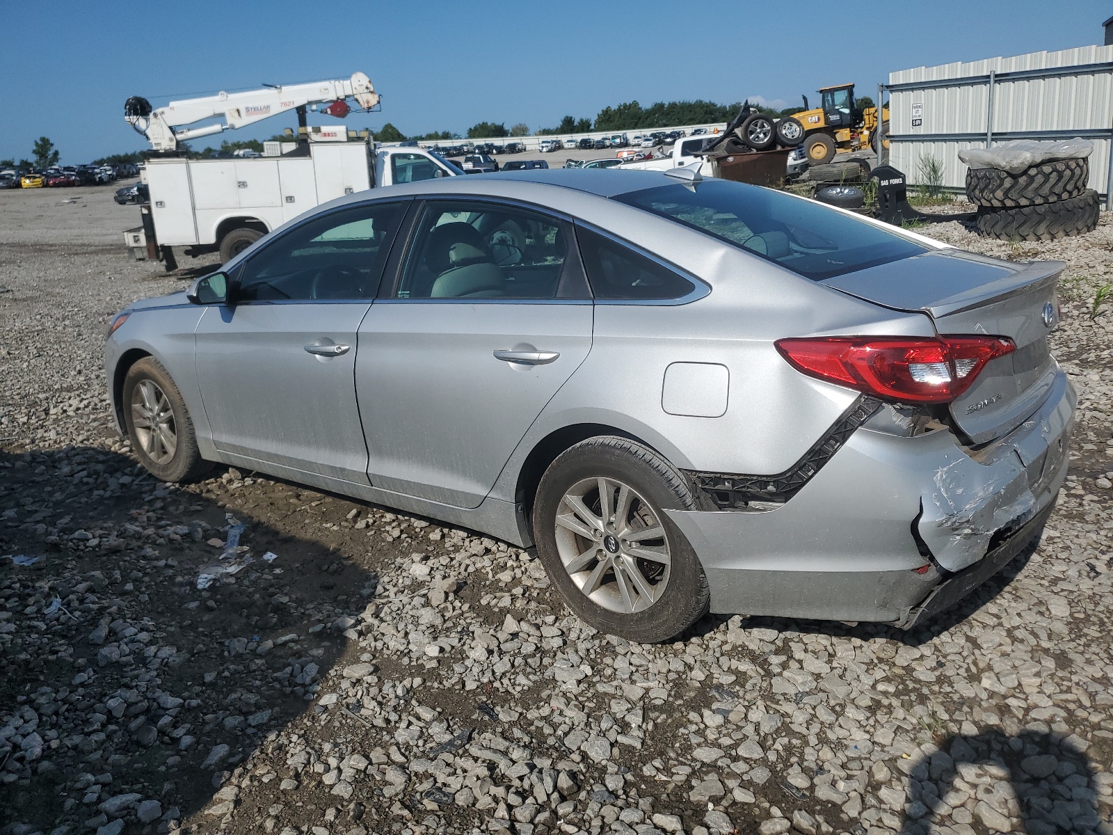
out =
[(549, 579), (591, 626), (640, 644), (673, 638), (707, 611), (703, 568), (664, 509), (692, 510), (677, 470), (624, 438), (591, 438), (550, 464), (533, 538)]

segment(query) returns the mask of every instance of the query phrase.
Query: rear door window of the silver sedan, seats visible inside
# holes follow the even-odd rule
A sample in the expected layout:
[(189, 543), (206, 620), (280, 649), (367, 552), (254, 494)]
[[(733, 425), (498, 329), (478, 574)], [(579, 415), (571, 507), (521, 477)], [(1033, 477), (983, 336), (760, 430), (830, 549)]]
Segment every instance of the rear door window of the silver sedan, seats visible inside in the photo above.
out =
[(555, 298), (568, 257), (563, 220), (493, 203), (425, 206), (398, 298)]

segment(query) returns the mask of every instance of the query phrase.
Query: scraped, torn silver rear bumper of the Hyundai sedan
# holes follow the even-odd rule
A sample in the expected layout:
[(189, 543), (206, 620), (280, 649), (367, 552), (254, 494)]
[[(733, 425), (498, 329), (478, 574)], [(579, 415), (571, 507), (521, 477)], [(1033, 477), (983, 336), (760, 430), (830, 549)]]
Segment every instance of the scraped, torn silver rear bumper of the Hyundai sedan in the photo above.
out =
[(715, 612), (919, 623), (1038, 536), (1066, 478), (1074, 405), (1060, 372), (1035, 414), (975, 453), (947, 431), (863, 428), (776, 510), (667, 513)]

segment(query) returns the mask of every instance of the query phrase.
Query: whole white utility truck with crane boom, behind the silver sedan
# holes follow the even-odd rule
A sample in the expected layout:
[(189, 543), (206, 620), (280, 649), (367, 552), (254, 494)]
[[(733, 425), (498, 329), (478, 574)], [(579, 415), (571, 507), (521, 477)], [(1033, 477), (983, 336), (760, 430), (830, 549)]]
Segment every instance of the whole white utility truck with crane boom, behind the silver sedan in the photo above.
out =
[[(146, 99), (128, 99), (125, 118), (150, 140), (155, 154), (141, 173), (149, 196), (140, 206), (142, 225), (124, 233), (125, 244), (136, 258), (160, 259), (168, 271), (177, 268), (175, 246), (187, 247), (191, 256), (219, 252), (228, 261), (286, 220), (333, 198), (463, 174), (424, 148), (376, 148), (367, 131), (306, 125), (307, 107), (328, 102), (322, 111), (343, 118), (351, 111), (345, 101), (349, 97), (364, 110), (378, 104), (362, 72), (341, 81), (171, 101), (157, 110)], [(289, 110), (298, 116), (298, 141), (279, 144), (277, 156), (189, 159), (180, 148), (186, 139)], [(175, 130), (214, 117), (223, 121)]]

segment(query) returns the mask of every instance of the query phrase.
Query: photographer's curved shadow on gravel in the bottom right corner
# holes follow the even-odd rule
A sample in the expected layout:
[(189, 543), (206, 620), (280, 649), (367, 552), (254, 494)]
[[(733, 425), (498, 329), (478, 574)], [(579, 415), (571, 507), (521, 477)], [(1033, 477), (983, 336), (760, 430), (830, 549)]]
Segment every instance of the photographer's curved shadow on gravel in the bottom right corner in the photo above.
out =
[(954, 819), (947, 809), (969, 794), (977, 798), (975, 821), (991, 832), (1012, 832), (1009, 817), (1028, 835), (1094, 831), (1097, 787), (1085, 747), (1075, 736), (1038, 730), (952, 736), (908, 769), (912, 804), (900, 833), (924, 835), (934, 813)]

